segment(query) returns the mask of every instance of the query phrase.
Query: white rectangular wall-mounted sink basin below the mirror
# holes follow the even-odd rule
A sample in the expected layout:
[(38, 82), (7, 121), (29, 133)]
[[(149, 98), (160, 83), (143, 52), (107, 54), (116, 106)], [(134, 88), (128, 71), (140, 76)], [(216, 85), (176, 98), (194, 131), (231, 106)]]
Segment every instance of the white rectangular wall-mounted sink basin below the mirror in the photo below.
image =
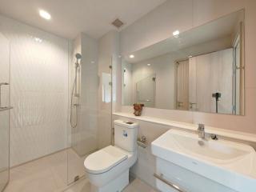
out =
[(151, 143), (152, 153), (237, 191), (256, 191), (256, 153), (248, 145), (198, 138), (169, 130)]

